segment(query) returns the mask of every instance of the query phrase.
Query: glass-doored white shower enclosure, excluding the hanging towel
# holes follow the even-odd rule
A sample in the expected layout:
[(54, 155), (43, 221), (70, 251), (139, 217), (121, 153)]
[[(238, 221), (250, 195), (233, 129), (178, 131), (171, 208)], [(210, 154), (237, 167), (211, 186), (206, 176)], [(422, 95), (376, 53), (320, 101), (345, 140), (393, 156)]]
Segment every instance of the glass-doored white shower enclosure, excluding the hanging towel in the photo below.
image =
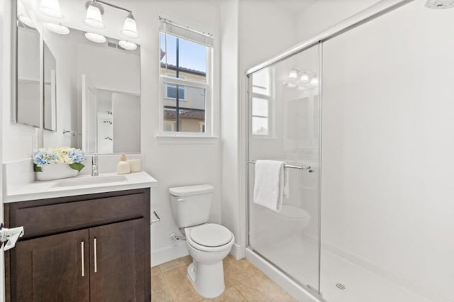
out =
[[(248, 257), (301, 299), (454, 301), (454, 10), (424, 4), (248, 71)], [(253, 203), (255, 160), (289, 166), (279, 213)]]

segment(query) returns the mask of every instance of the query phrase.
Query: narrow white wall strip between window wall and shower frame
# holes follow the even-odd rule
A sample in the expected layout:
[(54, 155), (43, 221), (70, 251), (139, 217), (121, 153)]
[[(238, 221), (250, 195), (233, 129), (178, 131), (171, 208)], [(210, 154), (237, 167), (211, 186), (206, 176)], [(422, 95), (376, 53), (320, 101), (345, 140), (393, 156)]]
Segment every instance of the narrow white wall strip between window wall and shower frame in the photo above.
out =
[[(238, 0), (221, 4), (221, 138), (222, 138), (222, 223), (235, 235), (232, 254), (244, 257), (244, 232), (240, 228), (241, 208), (238, 162)], [(233, 164), (232, 164), (233, 163)], [(238, 253), (240, 253), (238, 255)]]

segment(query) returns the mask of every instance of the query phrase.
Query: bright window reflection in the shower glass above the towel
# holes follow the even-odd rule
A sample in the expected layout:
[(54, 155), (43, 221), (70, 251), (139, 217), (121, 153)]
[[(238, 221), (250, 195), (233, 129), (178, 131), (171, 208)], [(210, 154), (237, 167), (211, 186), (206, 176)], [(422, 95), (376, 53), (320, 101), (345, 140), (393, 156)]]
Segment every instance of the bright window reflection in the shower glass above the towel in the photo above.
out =
[(265, 68), (252, 76), (252, 134), (270, 135), (271, 85), (270, 69)]

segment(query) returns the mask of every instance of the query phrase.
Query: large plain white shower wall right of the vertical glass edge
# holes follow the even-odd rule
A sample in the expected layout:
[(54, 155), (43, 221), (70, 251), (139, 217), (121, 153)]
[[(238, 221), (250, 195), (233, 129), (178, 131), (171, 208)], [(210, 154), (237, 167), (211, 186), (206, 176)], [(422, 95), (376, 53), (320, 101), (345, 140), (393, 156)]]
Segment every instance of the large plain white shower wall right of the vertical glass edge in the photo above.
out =
[(454, 301), (454, 11), (424, 4), (323, 43), (321, 240)]

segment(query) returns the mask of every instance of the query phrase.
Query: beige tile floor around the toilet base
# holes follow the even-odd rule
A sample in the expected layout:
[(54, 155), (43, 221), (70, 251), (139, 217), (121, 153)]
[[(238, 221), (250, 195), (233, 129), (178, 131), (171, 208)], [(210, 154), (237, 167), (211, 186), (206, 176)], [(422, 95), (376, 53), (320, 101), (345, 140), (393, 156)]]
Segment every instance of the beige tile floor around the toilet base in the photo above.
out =
[(190, 301), (295, 301), (274, 281), (265, 276), (247, 259), (224, 259), (226, 291), (214, 299), (199, 296), (187, 279), (190, 256), (160, 264), (151, 269), (151, 299), (153, 302)]

